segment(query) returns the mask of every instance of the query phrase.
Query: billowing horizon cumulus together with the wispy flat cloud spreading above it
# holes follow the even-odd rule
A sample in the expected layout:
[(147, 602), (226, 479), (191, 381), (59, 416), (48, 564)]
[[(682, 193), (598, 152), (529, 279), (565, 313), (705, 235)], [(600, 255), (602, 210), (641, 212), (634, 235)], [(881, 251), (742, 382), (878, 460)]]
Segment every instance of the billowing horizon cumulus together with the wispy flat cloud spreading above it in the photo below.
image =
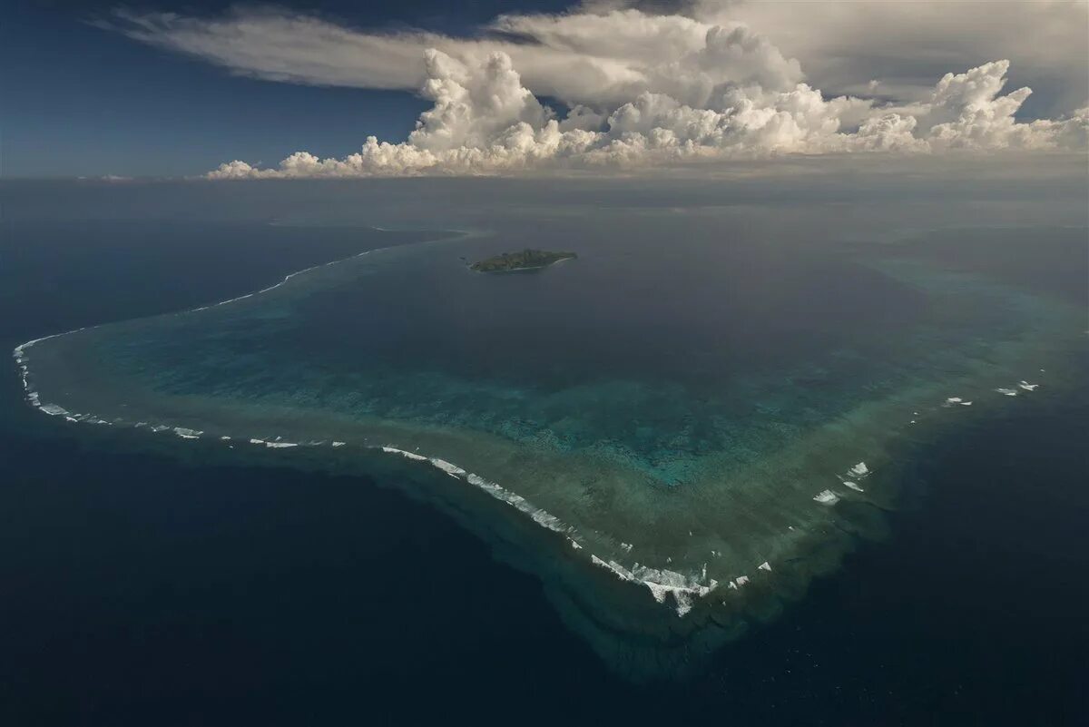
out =
[(476, 38), (364, 33), (270, 11), (213, 20), (123, 15), (121, 28), (237, 73), (414, 89), (432, 103), (404, 141), (370, 136), (343, 159), (299, 151), (276, 169), (232, 161), (213, 178), (639, 170), (786, 153), (1089, 145), (1089, 108), (1053, 120), (1017, 118), (1031, 90), (1005, 93), (1006, 60), (945, 73), (902, 98), (827, 97), (798, 60), (729, 20), (729, 10), (702, 3), (689, 14), (597, 8), (504, 15)]

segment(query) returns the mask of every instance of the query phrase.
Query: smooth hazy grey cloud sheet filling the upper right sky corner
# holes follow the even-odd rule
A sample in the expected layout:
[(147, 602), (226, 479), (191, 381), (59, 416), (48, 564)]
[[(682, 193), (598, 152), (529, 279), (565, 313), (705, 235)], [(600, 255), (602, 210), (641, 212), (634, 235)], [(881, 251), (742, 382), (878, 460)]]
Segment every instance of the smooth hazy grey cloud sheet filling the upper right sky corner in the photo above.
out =
[(882, 96), (919, 100), (935, 75), (1004, 58), (1020, 83), (1049, 87), (1041, 113), (1089, 103), (1087, 0), (701, 0), (689, 12), (774, 38), (836, 94), (878, 78)]

